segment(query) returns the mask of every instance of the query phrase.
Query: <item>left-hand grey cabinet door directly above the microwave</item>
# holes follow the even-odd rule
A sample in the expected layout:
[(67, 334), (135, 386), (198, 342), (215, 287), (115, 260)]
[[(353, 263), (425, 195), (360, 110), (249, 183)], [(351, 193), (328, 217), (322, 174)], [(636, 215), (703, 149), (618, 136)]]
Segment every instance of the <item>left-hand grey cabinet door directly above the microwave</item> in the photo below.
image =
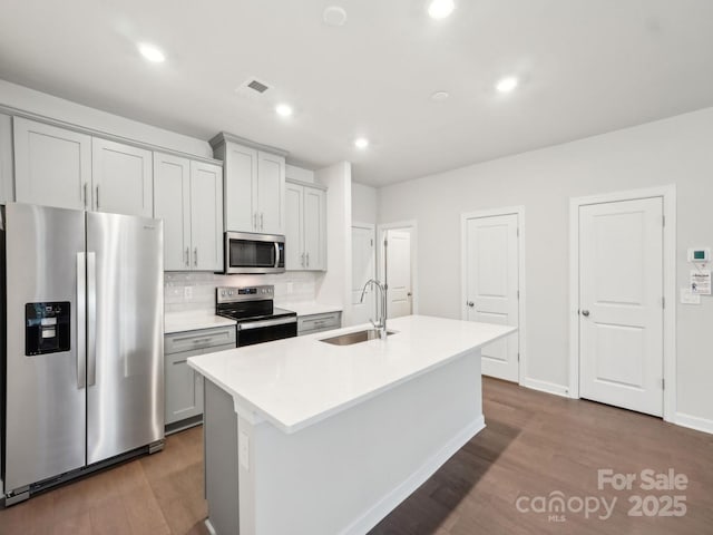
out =
[(232, 143), (225, 146), (225, 230), (255, 232), (257, 150)]

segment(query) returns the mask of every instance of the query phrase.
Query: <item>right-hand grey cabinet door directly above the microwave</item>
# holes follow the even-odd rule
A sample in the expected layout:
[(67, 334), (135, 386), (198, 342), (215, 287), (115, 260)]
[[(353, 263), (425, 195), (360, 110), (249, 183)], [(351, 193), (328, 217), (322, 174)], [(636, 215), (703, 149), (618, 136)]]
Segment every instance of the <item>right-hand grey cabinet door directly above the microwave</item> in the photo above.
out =
[(257, 225), (260, 232), (284, 233), (285, 158), (257, 153)]

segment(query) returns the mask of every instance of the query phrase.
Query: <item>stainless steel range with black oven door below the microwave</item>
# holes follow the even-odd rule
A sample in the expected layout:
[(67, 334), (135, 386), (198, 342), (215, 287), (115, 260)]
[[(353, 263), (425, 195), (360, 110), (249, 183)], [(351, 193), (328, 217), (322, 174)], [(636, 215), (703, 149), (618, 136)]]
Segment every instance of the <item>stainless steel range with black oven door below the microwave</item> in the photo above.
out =
[(273, 285), (216, 288), (215, 313), (237, 321), (237, 347), (297, 335), (297, 313), (274, 307)]

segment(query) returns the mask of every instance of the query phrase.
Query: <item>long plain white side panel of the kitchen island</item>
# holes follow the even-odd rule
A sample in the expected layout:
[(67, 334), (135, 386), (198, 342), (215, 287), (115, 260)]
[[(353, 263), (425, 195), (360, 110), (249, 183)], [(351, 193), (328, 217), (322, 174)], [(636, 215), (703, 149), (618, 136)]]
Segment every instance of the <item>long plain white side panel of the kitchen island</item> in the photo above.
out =
[(471, 350), (294, 434), (233, 414), (241, 535), (367, 533), (482, 429), (481, 399)]

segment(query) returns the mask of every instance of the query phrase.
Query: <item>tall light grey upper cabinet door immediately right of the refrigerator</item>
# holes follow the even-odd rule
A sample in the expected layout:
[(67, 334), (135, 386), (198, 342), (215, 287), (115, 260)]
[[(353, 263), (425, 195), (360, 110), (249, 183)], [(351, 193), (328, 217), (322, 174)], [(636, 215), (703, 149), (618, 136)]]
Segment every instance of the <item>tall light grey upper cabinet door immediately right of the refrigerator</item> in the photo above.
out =
[(164, 270), (191, 269), (191, 162), (154, 153), (154, 217), (164, 220)]

